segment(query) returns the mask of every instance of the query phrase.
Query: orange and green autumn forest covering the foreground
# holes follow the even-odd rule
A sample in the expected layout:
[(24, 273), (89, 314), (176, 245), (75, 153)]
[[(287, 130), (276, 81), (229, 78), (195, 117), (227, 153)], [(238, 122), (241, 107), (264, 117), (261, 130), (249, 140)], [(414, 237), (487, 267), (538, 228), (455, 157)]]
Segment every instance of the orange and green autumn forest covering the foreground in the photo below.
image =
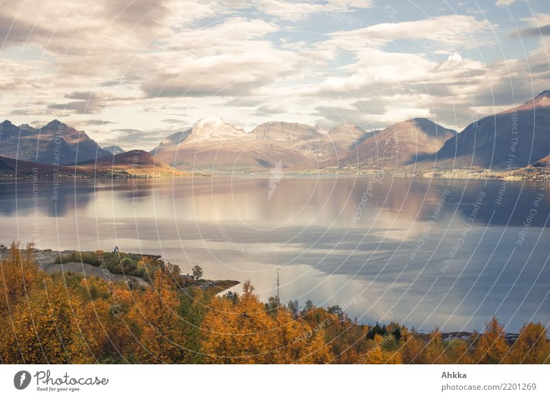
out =
[(359, 324), (338, 306), (261, 302), (250, 281), (241, 293), (182, 287), (179, 268), (140, 261), (120, 267), (140, 269), (151, 287), (47, 274), (31, 244), (13, 243), (0, 263), (1, 363), (550, 363), (540, 323), (525, 324), (514, 344), (496, 318), (467, 340), (444, 340), (438, 329), (425, 335), (396, 322)]

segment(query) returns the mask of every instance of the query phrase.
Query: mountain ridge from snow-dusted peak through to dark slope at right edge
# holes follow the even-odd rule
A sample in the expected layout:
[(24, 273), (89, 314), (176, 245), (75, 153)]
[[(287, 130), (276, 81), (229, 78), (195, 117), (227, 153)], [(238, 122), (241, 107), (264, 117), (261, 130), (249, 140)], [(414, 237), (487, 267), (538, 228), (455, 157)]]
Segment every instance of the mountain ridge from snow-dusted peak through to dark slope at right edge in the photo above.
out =
[(152, 153), (179, 168), (209, 170), (269, 170), (278, 162), (289, 170), (392, 168), (407, 173), (469, 166), (522, 168), (550, 153), (550, 91), (478, 120), (461, 133), (426, 118), (371, 133), (352, 123), (326, 131), (272, 121), (248, 133), (220, 120), (219, 125), (230, 133), (208, 133), (210, 125), (199, 122), (168, 136)]

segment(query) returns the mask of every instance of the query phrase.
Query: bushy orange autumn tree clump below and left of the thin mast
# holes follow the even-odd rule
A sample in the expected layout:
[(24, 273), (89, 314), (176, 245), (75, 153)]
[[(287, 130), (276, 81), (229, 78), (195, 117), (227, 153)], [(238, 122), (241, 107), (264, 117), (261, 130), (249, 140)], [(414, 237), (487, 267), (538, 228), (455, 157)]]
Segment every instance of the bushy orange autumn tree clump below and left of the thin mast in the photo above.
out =
[(294, 320), (285, 307), (268, 313), (245, 282), (239, 300), (214, 298), (201, 336), (206, 362), (225, 364), (326, 363), (330, 347), (322, 330)]

